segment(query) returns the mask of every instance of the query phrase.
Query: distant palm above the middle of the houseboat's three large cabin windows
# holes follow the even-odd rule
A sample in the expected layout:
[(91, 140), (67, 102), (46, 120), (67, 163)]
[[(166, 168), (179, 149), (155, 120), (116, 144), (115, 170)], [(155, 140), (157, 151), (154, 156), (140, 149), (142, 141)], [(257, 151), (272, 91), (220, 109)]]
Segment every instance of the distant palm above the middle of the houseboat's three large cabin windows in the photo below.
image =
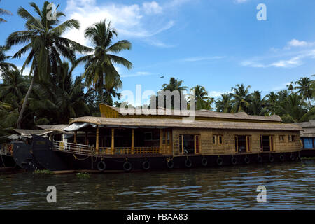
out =
[(251, 101), (251, 94), (249, 93), (249, 89), (251, 88), (250, 85), (248, 85), (246, 88), (243, 84), (239, 85), (237, 84), (236, 87), (232, 87), (232, 97), (234, 97), (233, 99), (233, 104), (234, 104), (234, 108), (233, 111), (235, 113), (237, 112), (247, 112), (248, 111), (248, 107), (250, 105), (250, 101)]

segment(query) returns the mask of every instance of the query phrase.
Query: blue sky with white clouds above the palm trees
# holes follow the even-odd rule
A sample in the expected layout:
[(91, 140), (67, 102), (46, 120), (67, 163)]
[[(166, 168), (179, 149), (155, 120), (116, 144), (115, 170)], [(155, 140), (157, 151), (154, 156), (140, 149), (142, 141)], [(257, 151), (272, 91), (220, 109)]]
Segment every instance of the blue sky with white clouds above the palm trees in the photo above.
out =
[[(1, 0), (0, 45), (13, 31), (25, 29), (20, 6), (33, 13), (30, 1)], [(34, 0), (40, 6), (44, 1)], [(132, 62), (130, 70), (116, 65), (123, 81), (120, 91), (157, 92), (169, 78), (183, 80), (189, 88), (202, 85), (210, 97), (230, 92), (237, 84), (251, 85), (263, 95), (286, 88), (300, 77), (315, 73), (314, 0), (167, 0), (167, 1), (52, 1), (80, 29), (64, 36), (92, 46), (84, 29), (106, 19), (127, 39), (132, 49), (119, 55)], [(266, 20), (258, 20), (259, 3), (266, 6)], [(13, 55), (21, 46), (13, 47)], [(25, 57), (11, 60), (22, 67)], [(83, 66), (73, 71), (83, 73)], [(25, 73), (29, 72), (27, 69)], [(160, 78), (164, 76), (164, 78)], [(311, 78), (314, 78), (311, 77)]]

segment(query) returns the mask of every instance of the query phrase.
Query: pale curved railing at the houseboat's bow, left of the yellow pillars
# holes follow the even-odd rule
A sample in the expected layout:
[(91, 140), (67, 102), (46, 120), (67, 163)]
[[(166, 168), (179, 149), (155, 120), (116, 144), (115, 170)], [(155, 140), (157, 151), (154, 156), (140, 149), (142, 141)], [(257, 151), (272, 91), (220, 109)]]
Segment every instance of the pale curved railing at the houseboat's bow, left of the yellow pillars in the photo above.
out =
[(64, 141), (53, 141), (56, 150), (65, 151), (69, 153), (78, 153), (84, 155), (90, 155), (94, 150), (93, 146), (74, 144)]

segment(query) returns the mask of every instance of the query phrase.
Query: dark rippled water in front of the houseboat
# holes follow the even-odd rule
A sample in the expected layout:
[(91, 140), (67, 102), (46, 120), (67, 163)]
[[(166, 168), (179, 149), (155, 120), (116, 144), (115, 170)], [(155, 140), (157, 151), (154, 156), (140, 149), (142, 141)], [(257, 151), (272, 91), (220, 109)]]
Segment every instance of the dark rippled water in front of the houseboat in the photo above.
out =
[[(0, 209), (315, 209), (315, 160), (92, 174), (0, 173)], [(46, 201), (56, 186), (57, 203)], [(256, 188), (267, 188), (258, 203)]]

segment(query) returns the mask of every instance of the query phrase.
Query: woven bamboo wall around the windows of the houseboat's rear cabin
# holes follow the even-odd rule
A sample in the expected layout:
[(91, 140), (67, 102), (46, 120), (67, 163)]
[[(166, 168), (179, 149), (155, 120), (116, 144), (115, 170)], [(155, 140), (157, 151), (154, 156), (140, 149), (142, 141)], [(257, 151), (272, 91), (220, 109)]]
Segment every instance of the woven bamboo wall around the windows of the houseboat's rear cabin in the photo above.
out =
[[(260, 153), (260, 136), (272, 135), (274, 139), (274, 152), (290, 152), (300, 151), (300, 137), (298, 131), (257, 131), (257, 130), (204, 130), (204, 129), (182, 129), (174, 128), (173, 130), (173, 147), (174, 155), (180, 155), (179, 135), (180, 134), (200, 134), (200, 146), (202, 155), (223, 155), (235, 154), (235, 135), (244, 135), (250, 137), (251, 152)], [(288, 135), (295, 135), (296, 141), (288, 141)], [(222, 135), (223, 144), (213, 144), (212, 136)], [(285, 138), (280, 141), (279, 136), (283, 135)]]

